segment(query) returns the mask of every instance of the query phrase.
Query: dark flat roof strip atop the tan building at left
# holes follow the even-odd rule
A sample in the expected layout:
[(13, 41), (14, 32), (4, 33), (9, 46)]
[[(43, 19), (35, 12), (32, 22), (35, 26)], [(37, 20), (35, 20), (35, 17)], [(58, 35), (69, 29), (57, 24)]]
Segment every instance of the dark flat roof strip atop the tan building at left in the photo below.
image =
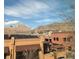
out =
[(27, 35), (27, 34), (4, 34), (4, 39), (11, 39), (14, 37), (15, 39), (25, 39), (25, 38), (39, 38), (39, 35)]

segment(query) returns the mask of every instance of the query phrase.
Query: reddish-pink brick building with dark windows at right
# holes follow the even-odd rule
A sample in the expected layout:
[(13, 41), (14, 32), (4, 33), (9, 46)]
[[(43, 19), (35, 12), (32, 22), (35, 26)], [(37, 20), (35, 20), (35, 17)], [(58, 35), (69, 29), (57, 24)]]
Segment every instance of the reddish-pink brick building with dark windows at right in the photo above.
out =
[(61, 45), (65, 48), (75, 48), (75, 33), (74, 32), (53, 32), (46, 36), (46, 40), (52, 43), (53, 46)]

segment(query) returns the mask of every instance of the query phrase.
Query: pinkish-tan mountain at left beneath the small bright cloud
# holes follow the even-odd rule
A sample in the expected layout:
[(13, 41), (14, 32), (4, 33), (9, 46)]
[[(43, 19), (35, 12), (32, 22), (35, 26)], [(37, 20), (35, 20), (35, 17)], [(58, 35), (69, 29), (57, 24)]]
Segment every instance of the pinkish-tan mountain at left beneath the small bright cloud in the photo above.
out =
[(24, 24), (16, 24), (11, 25), (9, 27), (4, 28), (4, 33), (6, 34), (14, 34), (14, 33), (28, 33), (31, 28), (29, 26), (25, 26)]

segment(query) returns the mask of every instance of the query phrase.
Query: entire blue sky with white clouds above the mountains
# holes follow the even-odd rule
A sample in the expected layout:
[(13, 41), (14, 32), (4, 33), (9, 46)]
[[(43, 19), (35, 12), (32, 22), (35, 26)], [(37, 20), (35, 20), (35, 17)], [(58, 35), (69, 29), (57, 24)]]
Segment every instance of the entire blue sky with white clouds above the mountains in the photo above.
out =
[(75, 18), (74, 0), (4, 0), (5, 26), (31, 28)]

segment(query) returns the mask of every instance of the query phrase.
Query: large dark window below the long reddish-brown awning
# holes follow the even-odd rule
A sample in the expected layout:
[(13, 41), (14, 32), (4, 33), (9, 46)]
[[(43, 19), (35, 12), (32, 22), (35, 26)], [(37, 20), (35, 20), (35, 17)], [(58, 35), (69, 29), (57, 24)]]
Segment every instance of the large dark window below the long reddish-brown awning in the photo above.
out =
[(16, 59), (39, 59), (38, 50), (16, 52)]

